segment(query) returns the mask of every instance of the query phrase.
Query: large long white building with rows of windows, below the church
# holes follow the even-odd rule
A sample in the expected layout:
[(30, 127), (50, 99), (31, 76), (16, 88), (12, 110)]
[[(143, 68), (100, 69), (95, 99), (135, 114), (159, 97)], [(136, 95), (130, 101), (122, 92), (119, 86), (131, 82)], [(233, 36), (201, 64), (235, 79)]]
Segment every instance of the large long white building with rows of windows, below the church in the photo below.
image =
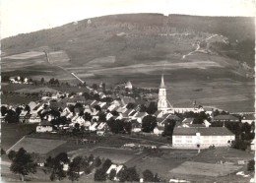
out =
[(234, 134), (225, 127), (176, 127), (172, 134), (172, 147), (188, 149), (209, 148), (213, 145), (216, 147), (229, 147), (234, 140)]

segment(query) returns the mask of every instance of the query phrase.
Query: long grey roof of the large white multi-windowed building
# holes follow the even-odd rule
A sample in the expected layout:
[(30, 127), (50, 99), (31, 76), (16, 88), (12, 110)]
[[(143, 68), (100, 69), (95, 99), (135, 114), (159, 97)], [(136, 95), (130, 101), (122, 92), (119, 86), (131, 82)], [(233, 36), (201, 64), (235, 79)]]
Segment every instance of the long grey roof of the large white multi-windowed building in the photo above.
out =
[(174, 128), (173, 135), (195, 136), (200, 133), (201, 136), (233, 136), (225, 127), (209, 127), (209, 128)]

